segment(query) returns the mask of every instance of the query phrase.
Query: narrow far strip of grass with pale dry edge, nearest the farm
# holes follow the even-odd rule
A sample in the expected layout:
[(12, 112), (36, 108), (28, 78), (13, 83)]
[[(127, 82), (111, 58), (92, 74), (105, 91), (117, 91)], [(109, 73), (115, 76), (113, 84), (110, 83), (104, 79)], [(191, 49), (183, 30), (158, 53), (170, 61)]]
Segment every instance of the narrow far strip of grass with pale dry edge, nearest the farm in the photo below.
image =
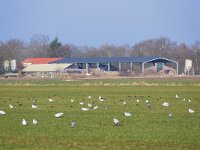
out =
[(195, 85), (200, 86), (199, 77), (197, 78), (130, 78), (130, 79), (89, 79), (89, 80), (60, 80), (60, 79), (24, 79), (8, 78), (0, 80), (0, 85), (65, 85), (65, 86), (80, 86), (80, 85), (168, 85), (168, 86), (188, 86)]

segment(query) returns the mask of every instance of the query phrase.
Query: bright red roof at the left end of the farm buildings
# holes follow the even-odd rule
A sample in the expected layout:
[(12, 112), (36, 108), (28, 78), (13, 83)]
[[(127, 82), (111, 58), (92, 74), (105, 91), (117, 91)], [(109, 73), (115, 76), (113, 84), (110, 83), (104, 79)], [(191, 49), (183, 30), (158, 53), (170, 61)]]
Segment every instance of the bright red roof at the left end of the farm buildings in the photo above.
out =
[(21, 63), (32, 63), (32, 64), (48, 64), (49, 62), (60, 60), (63, 58), (27, 58)]

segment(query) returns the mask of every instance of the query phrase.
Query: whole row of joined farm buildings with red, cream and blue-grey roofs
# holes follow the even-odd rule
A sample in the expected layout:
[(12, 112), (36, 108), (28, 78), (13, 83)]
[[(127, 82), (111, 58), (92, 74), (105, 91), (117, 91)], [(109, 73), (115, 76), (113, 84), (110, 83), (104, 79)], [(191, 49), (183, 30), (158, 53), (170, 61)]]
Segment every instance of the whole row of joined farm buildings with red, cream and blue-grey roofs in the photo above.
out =
[(164, 57), (28, 58), (23, 73), (178, 74), (178, 62)]

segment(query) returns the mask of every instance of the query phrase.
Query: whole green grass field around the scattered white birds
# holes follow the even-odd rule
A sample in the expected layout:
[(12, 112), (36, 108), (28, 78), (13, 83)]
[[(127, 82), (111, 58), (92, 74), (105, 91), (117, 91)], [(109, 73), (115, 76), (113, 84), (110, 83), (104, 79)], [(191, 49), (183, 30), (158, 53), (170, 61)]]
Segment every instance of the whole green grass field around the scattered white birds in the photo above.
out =
[[(104, 102), (98, 100), (100, 95)], [(32, 109), (33, 102), (40, 109)], [(82, 111), (88, 103), (98, 109)], [(0, 149), (200, 148), (200, 80), (0, 80), (0, 110), (6, 112), (0, 115)], [(55, 118), (57, 112), (63, 117)], [(23, 118), (27, 126), (22, 126)]]

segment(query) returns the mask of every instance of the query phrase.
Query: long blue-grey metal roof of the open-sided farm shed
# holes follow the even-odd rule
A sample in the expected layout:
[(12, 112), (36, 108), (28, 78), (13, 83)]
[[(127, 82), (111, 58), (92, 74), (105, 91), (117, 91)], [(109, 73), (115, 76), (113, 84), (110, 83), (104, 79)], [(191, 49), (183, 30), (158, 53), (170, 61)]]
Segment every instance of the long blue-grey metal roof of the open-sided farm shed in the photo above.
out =
[(113, 62), (133, 62), (133, 63), (147, 63), (147, 62), (174, 62), (173, 60), (156, 57), (96, 57), (96, 58), (63, 58), (50, 63), (113, 63)]

